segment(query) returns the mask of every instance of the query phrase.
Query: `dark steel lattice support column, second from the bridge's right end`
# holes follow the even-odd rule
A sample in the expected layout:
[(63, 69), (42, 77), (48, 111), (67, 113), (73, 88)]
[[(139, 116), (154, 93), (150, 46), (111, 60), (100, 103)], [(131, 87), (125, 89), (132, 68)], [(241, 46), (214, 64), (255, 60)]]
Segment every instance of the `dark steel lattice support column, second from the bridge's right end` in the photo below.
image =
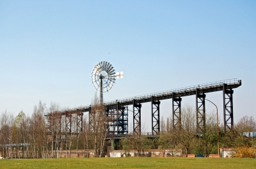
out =
[(196, 89), (196, 132), (202, 134), (205, 132), (205, 94), (199, 93)]

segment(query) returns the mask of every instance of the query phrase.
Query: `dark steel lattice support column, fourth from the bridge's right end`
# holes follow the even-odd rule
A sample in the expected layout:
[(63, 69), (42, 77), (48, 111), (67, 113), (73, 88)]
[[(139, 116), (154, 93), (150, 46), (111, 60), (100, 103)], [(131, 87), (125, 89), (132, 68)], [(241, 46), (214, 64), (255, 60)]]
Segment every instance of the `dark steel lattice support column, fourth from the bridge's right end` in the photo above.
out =
[(157, 135), (160, 132), (160, 101), (154, 101), (154, 96), (151, 97), (151, 112), (152, 112), (152, 135)]

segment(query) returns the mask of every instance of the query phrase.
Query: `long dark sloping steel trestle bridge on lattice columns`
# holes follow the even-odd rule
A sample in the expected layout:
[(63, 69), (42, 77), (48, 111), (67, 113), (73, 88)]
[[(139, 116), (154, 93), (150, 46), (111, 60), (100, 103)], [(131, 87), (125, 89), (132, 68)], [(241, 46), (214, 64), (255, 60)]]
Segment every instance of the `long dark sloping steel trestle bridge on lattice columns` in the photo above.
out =
[[(141, 96), (135, 96), (125, 99), (116, 99), (115, 101), (108, 101), (104, 103), (106, 108), (106, 115), (110, 117), (109, 125), (109, 138), (116, 138), (118, 136), (128, 134), (128, 111), (133, 115), (133, 132), (141, 134), (141, 103), (151, 103), (151, 135), (159, 135), (160, 133), (160, 103), (163, 99), (172, 99), (172, 125), (173, 128), (181, 127), (181, 101), (182, 97), (195, 95), (196, 101), (196, 130), (202, 133), (205, 129), (205, 97), (206, 93), (223, 91), (223, 116), (224, 116), (224, 130), (233, 129), (234, 116), (233, 116), (233, 89), (242, 85), (241, 80), (236, 78), (221, 80), (218, 82), (211, 82), (207, 84), (193, 85), (189, 87), (182, 87), (170, 91), (154, 92)], [(128, 105), (132, 105), (132, 110), (128, 110)], [(50, 126), (54, 122), (61, 123), (61, 117), (65, 119), (65, 133), (71, 133), (72, 127), (76, 128), (76, 132), (83, 131), (83, 113), (89, 113), (89, 128), (93, 129), (92, 119), (93, 114), (91, 108), (93, 105), (85, 107), (76, 107), (70, 109), (60, 110), (54, 114), (47, 114)], [(54, 116), (57, 119), (53, 118)], [(76, 125), (72, 126), (72, 117), (76, 118)], [(59, 124), (59, 126), (61, 126)], [(61, 127), (59, 128), (61, 133)], [(74, 131), (74, 130), (73, 130)]]

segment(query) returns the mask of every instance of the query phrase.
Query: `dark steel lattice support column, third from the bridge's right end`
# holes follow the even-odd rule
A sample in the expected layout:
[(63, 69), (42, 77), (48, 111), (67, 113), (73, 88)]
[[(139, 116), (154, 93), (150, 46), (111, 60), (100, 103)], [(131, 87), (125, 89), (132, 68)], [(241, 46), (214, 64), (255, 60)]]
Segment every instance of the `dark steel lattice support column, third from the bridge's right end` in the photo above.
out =
[(181, 100), (176, 98), (175, 92), (172, 93), (172, 124), (174, 129), (181, 129)]

